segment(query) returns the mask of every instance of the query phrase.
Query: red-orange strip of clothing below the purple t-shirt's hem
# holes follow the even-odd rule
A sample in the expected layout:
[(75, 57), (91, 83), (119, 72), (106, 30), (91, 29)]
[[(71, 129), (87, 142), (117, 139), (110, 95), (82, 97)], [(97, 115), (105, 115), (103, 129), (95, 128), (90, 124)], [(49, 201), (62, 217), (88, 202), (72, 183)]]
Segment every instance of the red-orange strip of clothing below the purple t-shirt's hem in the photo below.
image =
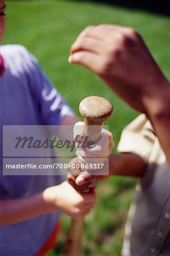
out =
[(59, 231), (61, 230), (61, 224), (61, 221), (57, 222), (57, 225), (53, 229), (53, 232), (50, 234), (48, 240), (46, 240), (41, 249), (33, 256), (45, 256), (50, 250), (56, 247)]

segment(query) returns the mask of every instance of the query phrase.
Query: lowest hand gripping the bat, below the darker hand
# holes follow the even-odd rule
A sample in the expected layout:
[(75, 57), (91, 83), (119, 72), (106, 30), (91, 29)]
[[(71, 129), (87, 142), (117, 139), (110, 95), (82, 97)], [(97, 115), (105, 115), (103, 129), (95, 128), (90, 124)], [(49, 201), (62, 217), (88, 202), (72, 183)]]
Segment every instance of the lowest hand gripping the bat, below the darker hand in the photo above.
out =
[(52, 210), (62, 210), (73, 218), (83, 217), (90, 212), (96, 203), (94, 190), (89, 193), (77, 192), (67, 181), (45, 189), (44, 199)]

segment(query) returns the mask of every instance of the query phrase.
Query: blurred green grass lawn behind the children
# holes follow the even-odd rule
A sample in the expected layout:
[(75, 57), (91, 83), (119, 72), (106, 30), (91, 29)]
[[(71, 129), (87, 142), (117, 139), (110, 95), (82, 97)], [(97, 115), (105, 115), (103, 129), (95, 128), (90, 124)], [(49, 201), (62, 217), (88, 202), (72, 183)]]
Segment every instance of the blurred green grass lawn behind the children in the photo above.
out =
[[(62, 96), (79, 115), (79, 102), (87, 96), (108, 98), (114, 115), (106, 123), (118, 142), (121, 130), (138, 113), (125, 105), (93, 73), (67, 62), (71, 44), (84, 27), (111, 23), (136, 28), (169, 79), (169, 20), (143, 10), (92, 1), (6, 1), (4, 44), (23, 44), (39, 59)], [(116, 148), (116, 147), (115, 147)], [(114, 149), (116, 152), (116, 149)], [(100, 182), (99, 200), (86, 217), (83, 255), (120, 255), (126, 215), (135, 193), (135, 179), (111, 177)], [(61, 255), (70, 218), (63, 216), (58, 246), (49, 255)]]

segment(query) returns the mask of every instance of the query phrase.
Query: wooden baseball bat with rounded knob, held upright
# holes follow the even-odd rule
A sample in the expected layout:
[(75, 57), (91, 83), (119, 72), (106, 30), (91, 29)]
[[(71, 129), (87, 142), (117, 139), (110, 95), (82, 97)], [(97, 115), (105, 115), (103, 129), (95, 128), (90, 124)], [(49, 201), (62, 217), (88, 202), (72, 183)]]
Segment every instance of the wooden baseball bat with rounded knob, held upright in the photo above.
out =
[[(84, 98), (79, 105), (80, 114), (84, 117), (84, 135), (88, 141), (96, 143), (100, 138), (104, 121), (109, 119), (113, 112), (111, 102), (103, 97), (90, 96)], [(76, 188), (77, 186), (75, 186)], [(84, 217), (72, 218), (71, 227), (66, 238), (63, 255), (82, 255), (82, 232)]]

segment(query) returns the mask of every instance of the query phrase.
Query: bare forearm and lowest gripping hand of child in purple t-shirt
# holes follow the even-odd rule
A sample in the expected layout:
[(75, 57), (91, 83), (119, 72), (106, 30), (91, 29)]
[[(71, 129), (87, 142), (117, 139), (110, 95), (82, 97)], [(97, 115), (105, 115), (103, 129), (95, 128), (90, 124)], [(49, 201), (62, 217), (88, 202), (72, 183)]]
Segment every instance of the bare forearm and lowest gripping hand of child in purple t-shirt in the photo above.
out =
[(10, 225), (61, 210), (73, 218), (85, 216), (96, 202), (95, 192), (78, 193), (64, 181), (31, 197), (1, 201), (1, 225)]

